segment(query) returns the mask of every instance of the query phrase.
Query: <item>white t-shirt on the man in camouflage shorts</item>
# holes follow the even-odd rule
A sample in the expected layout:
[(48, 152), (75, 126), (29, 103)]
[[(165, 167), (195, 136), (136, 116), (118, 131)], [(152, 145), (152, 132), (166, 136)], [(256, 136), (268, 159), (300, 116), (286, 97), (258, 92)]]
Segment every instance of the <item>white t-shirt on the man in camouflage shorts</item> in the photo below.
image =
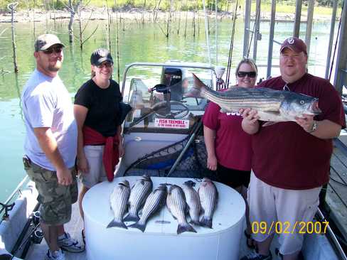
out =
[(33, 132), (36, 127), (49, 127), (58, 143), (65, 166), (73, 167), (78, 130), (70, 94), (60, 77), (48, 77), (35, 70), (23, 88), (21, 100), (26, 124), (26, 155), (33, 163), (48, 170), (55, 170)]

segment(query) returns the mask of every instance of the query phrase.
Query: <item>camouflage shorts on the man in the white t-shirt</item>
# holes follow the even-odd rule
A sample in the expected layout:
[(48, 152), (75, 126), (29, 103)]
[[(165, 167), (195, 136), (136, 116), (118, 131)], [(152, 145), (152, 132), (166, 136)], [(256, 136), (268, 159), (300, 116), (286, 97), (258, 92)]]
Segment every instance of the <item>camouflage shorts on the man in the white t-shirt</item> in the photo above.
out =
[(60, 225), (70, 221), (71, 205), (78, 200), (76, 170), (71, 169), (73, 183), (65, 186), (58, 183), (55, 171), (35, 163), (24, 163), (29, 178), (36, 184), (38, 202), (41, 203), (41, 221), (48, 225)]

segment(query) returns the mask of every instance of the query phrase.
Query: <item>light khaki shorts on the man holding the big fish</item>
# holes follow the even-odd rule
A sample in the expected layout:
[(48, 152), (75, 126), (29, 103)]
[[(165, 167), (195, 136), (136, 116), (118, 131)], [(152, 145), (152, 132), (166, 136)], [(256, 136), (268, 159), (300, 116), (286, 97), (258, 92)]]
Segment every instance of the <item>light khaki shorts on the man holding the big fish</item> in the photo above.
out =
[(285, 255), (300, 251), (304, 237), (299, 234), (299, 225), (295, 223), (312, 221), (319, 205), (320, 190), (321, 187), (309, 190), (276, 188), (264, 183), (252, 172), (247, 194), (252, 231), (255, 232), (261, 222), (262, 227), (265, 227), (265, 222), (267, 227), (266, 232), (258, 229), (258, 232), (252, 234), (253, 239), (257, 242), (265, 241), (274, 234), (277, 224), (279, 252)]

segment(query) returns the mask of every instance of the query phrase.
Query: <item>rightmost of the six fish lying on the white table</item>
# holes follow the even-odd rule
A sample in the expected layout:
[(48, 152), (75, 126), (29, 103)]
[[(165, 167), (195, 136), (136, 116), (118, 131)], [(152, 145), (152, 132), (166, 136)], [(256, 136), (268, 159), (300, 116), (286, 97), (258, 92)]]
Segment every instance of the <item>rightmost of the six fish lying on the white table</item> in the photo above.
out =
[(201, 225), (212, 228), (213, 212), (218, 202), (218, 191), (215, 188), (215, 184), (208, 178), (203, 178), (198, 194), (201, 201), (201, 207), (203, 207), (203, 218), (201, 219)]

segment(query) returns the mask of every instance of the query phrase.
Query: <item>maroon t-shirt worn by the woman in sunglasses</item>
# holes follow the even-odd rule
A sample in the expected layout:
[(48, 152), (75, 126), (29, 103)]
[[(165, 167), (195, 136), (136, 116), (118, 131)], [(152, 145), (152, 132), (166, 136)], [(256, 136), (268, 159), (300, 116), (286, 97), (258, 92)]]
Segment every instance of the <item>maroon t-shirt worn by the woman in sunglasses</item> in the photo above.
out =
[(252, 148), (251, 136), (241, 127), (238, 113), (221, 113), (218, 104), (210, 102), (203, 124), (215, 130), (215, 156), (218, 163), (235, 170), (250, 170)]

